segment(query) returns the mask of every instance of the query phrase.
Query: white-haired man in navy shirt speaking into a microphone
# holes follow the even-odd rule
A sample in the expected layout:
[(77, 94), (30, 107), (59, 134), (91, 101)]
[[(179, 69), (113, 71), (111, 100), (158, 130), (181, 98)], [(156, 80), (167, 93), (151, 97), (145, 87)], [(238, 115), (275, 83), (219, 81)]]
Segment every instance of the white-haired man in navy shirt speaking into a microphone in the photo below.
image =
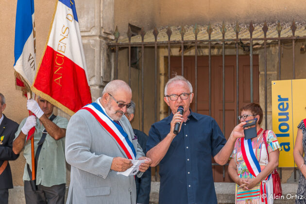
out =
[[(152, 167), (159, 164), (159, 204), (217, 204), (211, 156), (224, 165), (236, 139), (244, 136), (245, 122), (238, 124), (226, 141), (213, 118), (190, 110), (192, 99), (187, 79), (170, 79), (164, 101), (171, 115), (154, 123), (149, 132), (147, 157), (152, 159)], [(180, 105), (183, 115), (177, 111)], [(173, 134), (176, 122), (181, 122), (178, 135)]]

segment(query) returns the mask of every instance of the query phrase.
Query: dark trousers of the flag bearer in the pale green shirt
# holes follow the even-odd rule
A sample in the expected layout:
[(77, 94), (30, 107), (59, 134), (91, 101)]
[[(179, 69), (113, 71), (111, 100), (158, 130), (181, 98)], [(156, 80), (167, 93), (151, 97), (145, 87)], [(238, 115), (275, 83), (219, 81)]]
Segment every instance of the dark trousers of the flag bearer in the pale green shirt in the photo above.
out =
[(26, 204), (64, 204), (66, 185), (54, 185), (51, 187), (37, 186), (33, 191), (29, 181), (24, 181), (24, 196)]

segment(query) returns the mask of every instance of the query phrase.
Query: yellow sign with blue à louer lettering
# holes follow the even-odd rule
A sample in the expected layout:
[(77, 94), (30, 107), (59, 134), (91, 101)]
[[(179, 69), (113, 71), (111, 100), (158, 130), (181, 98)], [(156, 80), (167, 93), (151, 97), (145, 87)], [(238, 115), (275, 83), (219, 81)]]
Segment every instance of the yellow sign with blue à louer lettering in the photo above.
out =
[(306, 79), (272, 81), (272, 125), (282, 148), (279, 167), (294, 167), (297, 126), (306, 118)]

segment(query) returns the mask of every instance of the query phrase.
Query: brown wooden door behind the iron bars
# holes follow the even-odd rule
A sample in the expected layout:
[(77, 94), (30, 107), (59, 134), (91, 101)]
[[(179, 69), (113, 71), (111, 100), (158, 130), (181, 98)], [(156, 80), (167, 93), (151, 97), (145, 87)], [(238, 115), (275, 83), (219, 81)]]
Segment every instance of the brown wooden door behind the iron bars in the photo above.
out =
[[(237, 97), (236, 97), (236, 55), (225, 56), (225, 133), (226, 139), (237, 125)], [(181, 57), (171, 56), (171, 74), (182, 73)], [(184, 57), (184, 76), (195, 88), (195, 57)], [(222, 93), (222, 56), (211, 56), (211, 117), (213, 117), (223, 131), (223, 93)], [(250, 102), (250, 56), (239, 56), (239, 107)], [(195, 90), (193, 90), (195, 92)], [(194, 98), (195, 100), (195, 98)], [(259, 102), (259, 71), (258, 55), (253, 56), (253, 101)], [(194, 111), (195, 103), (191, 103)], [(209, 68), (208, 56), (198, 56), (198, 99), (197, 112), (209, 115)], [(212, 158), (212, 163), (215, 163)], [(225, 166), (213, 166), (215, 182), (233, 182)]]

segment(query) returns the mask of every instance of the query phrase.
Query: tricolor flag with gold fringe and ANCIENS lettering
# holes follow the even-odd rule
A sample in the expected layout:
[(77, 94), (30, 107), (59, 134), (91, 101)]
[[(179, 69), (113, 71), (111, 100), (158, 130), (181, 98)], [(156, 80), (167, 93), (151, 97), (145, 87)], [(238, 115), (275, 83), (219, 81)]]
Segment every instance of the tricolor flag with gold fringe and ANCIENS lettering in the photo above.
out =
[(74, 0), (57, 0), (32, 90), (69, 115), (91, 103)]

